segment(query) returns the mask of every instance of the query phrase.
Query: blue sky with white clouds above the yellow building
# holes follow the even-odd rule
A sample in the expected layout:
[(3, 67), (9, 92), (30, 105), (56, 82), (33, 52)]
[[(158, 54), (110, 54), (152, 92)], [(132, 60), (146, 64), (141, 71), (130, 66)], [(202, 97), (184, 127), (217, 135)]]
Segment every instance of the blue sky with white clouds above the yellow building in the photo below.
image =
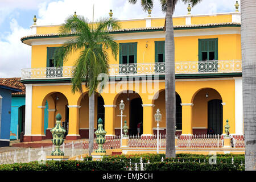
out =
[[(30, 34), (34, 15), (38, 25), (61, 24), (73, 14), (94, 17), (113, 16), (118, 19), (144, 18), (140, 0), (130, 5), (127, 0), (0, 0), (0, 77), (20, 77), (20, 69), (30, 68), (31, 47), (20, 42)], [(240, 1), (238, 1), (240, 3)], [(234, 11), (235, 0), (203, 0), (191, 10), (191, 14), (213, 14)], [(179, 2), (174, 15), (187, 14), (187, 5)], [(151, 16), (164, 16), (159, 1), (154, 1)]]

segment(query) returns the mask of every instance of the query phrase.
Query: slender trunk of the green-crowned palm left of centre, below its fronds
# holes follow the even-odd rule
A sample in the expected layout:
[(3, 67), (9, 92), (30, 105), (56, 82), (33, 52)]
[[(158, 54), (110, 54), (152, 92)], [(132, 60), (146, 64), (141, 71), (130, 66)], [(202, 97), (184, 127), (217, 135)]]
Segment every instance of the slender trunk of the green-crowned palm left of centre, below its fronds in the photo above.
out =
[(94, 92), (89, 96), (89, 156), (93, 152), (94, 138)]

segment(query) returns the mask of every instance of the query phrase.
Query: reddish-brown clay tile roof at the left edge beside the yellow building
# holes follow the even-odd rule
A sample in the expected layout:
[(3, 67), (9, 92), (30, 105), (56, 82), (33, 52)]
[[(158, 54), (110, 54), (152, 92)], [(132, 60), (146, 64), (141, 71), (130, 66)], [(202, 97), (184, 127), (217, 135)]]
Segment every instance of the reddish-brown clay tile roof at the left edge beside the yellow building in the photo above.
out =
[(13, 96), (25, 94), (25, 86), (20, 82), (20, 78), (0, 78), (0, 85), (22, 90), (22, 92), (12, 93)]

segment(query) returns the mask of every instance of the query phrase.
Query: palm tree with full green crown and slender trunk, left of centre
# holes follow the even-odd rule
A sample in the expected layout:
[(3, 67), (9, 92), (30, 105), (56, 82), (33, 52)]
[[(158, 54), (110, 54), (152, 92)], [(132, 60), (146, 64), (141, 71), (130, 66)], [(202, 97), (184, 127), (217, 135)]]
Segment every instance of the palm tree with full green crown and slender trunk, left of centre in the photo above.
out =
[(99, 89), (97, 77), (101, 73), (109, 73), (109, 56), (104, 48), (110, 48), (115, 60), (118, 54), (118, 44), (109, 34), (110, 27), (120, 28), (115, 19), (100, 19), (89, 23), (84, 16), (71, 15), (60, 27), (60, 35), (74, 36), (58, 48), (54, 55), (59, 66), (62, 61), (65, 63), (68, 60), (69, 55), (80, 52), (72, 69), (72, 92), (82, 94), (82, 82), (85, 82), (85, 87), (89, 90), (89, 155), (93, 152), (94, 93)]

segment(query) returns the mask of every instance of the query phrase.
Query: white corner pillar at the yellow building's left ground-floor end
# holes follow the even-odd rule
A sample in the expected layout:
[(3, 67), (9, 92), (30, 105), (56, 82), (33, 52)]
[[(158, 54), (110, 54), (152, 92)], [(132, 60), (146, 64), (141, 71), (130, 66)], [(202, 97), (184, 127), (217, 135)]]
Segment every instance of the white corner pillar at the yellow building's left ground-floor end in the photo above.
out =
[(31, 135), (31, 121), (32, 121), (32, 84), (25, 84), (26, 86), (26, 107), (25, 107), (25, 136)]

